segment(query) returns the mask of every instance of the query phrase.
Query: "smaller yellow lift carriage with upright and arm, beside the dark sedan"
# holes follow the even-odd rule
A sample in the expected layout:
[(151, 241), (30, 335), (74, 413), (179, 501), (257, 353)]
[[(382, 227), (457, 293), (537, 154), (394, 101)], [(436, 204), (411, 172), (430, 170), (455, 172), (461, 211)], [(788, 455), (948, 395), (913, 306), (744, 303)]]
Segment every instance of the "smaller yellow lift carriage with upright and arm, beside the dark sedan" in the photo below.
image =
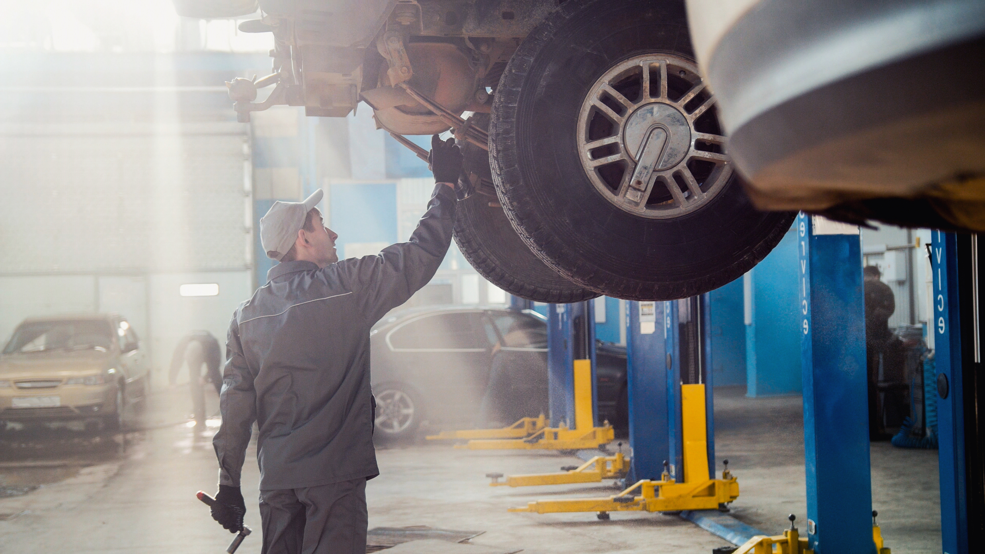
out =
[(583, 450), (611, 443), (616, 434), (609, 422), (594, 426), (592, 414), (592, 361), (574, 361), (574, 429), (545, 427), (522, 439), (476, 439), (456, 449), (469, 450)]

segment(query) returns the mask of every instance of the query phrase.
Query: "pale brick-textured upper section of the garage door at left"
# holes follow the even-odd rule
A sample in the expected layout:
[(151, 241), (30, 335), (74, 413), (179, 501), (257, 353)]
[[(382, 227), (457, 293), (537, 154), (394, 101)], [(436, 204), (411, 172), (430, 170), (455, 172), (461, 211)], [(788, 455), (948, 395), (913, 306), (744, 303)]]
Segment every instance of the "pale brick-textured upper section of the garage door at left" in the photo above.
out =
[(244, 136), (120, 129), (0, 136), (0, 272), (248, 264)]

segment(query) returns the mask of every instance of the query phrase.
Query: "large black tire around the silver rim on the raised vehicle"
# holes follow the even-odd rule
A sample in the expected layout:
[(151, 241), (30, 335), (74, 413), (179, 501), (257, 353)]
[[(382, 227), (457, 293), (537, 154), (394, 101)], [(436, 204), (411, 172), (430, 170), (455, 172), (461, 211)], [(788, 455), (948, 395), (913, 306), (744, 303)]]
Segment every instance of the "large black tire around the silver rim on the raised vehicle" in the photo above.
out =
[(665, 219), (628, 213), (593, 185), (578, 151), (582, 103), (610, 68), (651, 54), (693, 60), (683, 2), (569, 0), (510, 59), (490, 129), (493, 179), (523, 242), (571, 281), (637, 301), (729, 283), (765, 257), (795, 217), (756, 210), (734, 173), (709, 200)]

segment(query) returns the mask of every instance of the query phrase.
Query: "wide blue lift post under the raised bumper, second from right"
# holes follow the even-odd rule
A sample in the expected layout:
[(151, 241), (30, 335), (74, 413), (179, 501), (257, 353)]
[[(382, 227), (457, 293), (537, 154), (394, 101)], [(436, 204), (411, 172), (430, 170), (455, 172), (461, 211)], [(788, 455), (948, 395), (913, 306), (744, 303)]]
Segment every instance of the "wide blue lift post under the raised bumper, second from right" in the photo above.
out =
[(801, 213), (797, 236), (807, 536), (818, 554), (872, 554), (859, 232)]

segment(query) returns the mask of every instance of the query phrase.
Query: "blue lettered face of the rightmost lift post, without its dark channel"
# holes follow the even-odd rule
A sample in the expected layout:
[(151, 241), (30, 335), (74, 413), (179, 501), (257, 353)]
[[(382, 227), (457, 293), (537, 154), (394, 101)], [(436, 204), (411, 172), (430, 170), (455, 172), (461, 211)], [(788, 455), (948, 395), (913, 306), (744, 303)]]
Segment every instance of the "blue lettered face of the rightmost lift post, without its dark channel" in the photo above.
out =
[[(935, 231), (933, 332), (938, 373), (937, 426), (941, 472), (941, 539), (948, 554), (967, 554), (967, 467), (964, 449), (964, 389), (961, 372), (961, 300), (958, 295), (957, 237)], [(966, 306), (970, 308), (970, 301)], [(944, 395), (942, 384), (947, 383)]]

